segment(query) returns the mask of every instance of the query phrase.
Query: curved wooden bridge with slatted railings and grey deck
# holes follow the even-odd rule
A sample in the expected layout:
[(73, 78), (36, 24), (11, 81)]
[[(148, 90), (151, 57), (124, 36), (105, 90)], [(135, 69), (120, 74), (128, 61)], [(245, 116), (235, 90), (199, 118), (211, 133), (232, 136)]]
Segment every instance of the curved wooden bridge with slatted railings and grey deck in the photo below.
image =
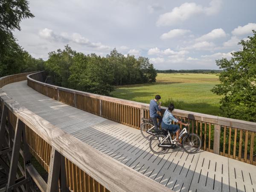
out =
[[(2, 191), (32, 190), (31, 180), (51, 192), (256, 190), (256, 123), (175, 110), (200, 135), (202, 149), (156, 155), (139, 130), (147, 104), (44, 80), (43, 72), (0, 79)], [(49, 173), (47, 182), (31, 155)]]

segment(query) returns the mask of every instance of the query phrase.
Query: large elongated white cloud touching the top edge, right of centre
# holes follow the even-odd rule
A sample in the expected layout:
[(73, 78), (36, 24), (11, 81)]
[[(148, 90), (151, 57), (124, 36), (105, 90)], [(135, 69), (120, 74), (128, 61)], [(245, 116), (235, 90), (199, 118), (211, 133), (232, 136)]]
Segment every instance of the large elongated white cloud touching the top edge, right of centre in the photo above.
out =
[(160, 15), (157, 26), (172, 26), (199, 14), (213, 15), (218, 13), (220, 8), (221, 0), (212, 0), (209, 7), (203, 7), (196, 3), (183, 3), (181, 6), (173, 8), (171, 12)]

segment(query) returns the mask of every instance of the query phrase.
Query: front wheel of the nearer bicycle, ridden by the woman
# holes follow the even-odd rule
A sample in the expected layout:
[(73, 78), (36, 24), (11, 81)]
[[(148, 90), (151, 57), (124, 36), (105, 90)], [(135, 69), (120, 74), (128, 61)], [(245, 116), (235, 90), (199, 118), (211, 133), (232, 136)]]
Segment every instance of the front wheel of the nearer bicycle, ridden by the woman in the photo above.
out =
[(201, 144), (201, 139), (197, 134), (187, 134), (182, 140), (182, 148), (189, 154), (199, 151)]

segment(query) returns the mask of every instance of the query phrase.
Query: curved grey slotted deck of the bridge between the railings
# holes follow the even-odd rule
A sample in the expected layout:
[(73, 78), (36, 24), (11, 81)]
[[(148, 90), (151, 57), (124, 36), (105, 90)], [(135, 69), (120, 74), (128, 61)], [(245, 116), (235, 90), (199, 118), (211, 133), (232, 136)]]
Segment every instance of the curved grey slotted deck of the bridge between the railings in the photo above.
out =
[(50, 99), (26, 81), (2, 89), (53, 125), (174, 191), (256, 192), (256, 166), (207, 151), (156, 155), (140, 130)]

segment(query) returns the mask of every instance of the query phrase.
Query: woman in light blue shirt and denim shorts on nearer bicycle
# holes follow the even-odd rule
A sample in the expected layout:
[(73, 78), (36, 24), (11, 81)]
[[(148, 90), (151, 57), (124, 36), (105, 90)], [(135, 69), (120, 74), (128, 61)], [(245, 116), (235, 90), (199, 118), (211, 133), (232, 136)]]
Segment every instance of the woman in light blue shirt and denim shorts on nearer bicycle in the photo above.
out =
[(172, 111), (174, 110), (174, 104), (170, 103), (168, 106), (168, 110), (166, 110), (163, 114), (163, 122), (161, 124), (162, 128), (164, 130), (170, 130), (172, 131), (173, 134), (176, 133), (176, 142), (180, 143), (179, 141), (179, 134), (180, 134), (180, 126), (179, 125), (174, 125), (172, 124), (172, 121), (180, 123), (181, 125), (185, 125), (188, 126), (188, 123), (183, 123), (180, 120), (176, 119), (173, 115), (172, 115)]

